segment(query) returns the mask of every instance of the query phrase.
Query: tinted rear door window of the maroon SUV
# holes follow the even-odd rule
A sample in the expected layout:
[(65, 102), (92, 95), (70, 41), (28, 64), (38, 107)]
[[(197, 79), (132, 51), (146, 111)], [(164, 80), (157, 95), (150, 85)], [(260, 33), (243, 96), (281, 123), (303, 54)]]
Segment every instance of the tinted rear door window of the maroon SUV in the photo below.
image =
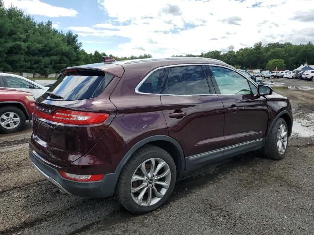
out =
[(209, 94), (209, 87), (201, 66), (170, 67), (162, 94)]

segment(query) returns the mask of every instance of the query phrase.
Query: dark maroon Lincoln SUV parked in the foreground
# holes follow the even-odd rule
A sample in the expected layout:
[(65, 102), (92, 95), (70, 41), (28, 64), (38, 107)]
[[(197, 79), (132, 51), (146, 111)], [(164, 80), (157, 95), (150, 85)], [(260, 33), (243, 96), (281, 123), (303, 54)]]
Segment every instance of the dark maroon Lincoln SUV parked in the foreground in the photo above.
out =
[(115, 61), (66, 68), (36, 100), (30, 159), (62, 192), (152, 211), (178, 173), (261, 148), (282, 159), (287, 98), (207, 58)]

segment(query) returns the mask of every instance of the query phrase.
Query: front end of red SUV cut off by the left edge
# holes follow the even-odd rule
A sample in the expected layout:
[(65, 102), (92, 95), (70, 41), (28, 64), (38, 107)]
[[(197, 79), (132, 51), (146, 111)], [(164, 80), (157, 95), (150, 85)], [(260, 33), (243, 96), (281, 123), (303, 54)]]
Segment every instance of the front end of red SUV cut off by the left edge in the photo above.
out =
[(35, 99), (30, 92), (0, 88), (0, 132), (19, 131), (31, 120)]

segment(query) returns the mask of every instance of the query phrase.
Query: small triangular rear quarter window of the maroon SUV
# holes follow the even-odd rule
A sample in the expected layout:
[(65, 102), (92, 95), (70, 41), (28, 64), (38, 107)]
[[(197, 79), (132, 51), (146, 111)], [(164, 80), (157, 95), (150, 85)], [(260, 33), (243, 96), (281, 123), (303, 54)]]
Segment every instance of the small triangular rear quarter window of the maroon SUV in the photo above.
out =
[(138, 89), (139, 92), (160, 94), (164, 69), (154, 71)]

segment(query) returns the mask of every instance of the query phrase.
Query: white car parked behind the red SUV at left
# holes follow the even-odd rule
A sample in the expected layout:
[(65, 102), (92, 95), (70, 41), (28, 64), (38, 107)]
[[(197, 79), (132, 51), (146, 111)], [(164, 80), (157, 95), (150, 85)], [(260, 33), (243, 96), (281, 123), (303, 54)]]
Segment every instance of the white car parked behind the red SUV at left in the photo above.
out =
[(49, 88), (39, 85), (25, 77), (9, 73), (0, 73), (0, 87), (31, 92), (35, 99), (44, 94)]

